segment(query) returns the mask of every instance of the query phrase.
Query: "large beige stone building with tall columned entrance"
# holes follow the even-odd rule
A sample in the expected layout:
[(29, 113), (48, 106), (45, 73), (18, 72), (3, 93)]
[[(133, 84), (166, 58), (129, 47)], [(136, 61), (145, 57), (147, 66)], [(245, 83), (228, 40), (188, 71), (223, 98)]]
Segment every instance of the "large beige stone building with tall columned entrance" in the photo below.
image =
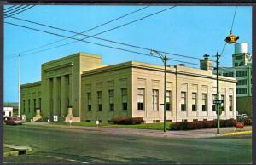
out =
[[(170, 122), (216, 119), (216, 76), (212, 60), (201, 69), (175, 65), (167, 68), (167, 112)], [(41, 111), (58, 121), (108, 122), (113, 117), (143, 117), (163, 122), (164, 67), (129, 61), (102, 65), (99, 55), (78, 53), (42, 65), (42, 80), (21, 86), (21, 108), (26, 118)], [(221, 118), (236, 118), (236, 79), (220, 77), (224, 100)]]

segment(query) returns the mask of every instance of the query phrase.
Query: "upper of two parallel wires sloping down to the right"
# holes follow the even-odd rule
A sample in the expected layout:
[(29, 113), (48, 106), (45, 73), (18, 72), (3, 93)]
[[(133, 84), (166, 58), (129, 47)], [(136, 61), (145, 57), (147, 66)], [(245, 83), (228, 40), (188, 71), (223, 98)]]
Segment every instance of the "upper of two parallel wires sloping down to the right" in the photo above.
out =
[[(105, 39), (105, 38), (102, 38), (102, 37), (94, 37), (94, 36), (90, 36), (90, 35), (85, 35), (85, 34), (82, 34), (82, 33), (75, 32), (75, 31), (65, 30), (65, 29), (62, 29), (62, 28), (59, 28), (59, 27), (41, 24), (41, 23), (31, 21), (31, 20), (24, 20), (24, 19), (20, 19), (20, 18), (16, 18), (16, 17), (10, 17), (10, 18), (15, 19), (15, 20), (21, 20), (21, 21), (29, 22), (29, 23), (36, 24), (36, 25), (39, 25), (39, 26), (46, 26), (46, 27), (53, 28), (53, 29), (56, 29), (56, 30), (71, 32), (71, 33), (74, 33), (76, 35), (86, 36), (86, 38), (93, 37), (93, 38), (96, 38), (98, 40), (107, 41), (109, 43), (117, 43), (117, 44), (129, 46), (129, 47), (132, 47), (132, 48), (140, 48), (140, 49), (144, 49), (144, 50), (148, 50), (148, 51), (150, 51), (152, 49), (152, 48), (143, 48), (143, 47), (136, 46), (136, 45), (131, 45), (131, 44), (128, 44), (128, 43), (120, 43), (120, 42)], [(76, 36), (76, 35), (73, 35), (73, 37)], [(67, 38), (65, 38), (65, 39), (67, 39)], [(158, 51), (160, 53), (163, 53), (163, 54), (171, 54), (171, 55), (175, 55), (175, 56), (181, 56), (181, 57), (185, 57), (185, 58), (201, 60), (200, 58), (196, 58), (196, 57), (193, 57), (193, 56), (187, 56), (187, 55), (182, 55), (182, 54), (173, 54), (173, 53), (164, 52), (164, 51), (160, 51), (160, 50), (156, 50), (156, 51)]]

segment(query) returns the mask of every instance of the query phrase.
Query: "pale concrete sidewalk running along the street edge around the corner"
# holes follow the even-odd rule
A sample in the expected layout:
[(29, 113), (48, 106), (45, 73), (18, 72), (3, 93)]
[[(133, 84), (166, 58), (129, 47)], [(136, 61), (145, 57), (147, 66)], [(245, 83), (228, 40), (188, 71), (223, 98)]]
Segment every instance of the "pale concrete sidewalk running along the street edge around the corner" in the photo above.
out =
[(110, 128), (110, 127), (85, 127), (85, 126), (67, 126), (55, 125), (46, 122), (26, 122), (27, 126), (38, 126), (46, 128), (65, 128), (81, 131), (90, 131), (98, 134), (115, 134), (115, 135), (131, 135), (131, 136), (149, 136), (149, 137), (168, 137), (168, 138), (212, 138), (235, 134), (250, 134), (252, 126), (246, 126), (244, 129), (235, 131), (232, 128), (220, 128), (220, 134), (217, 134), (217, 128), (187, 130), (187, 131), (166, 131), (152, 129), (136, 129), (136, 128)]

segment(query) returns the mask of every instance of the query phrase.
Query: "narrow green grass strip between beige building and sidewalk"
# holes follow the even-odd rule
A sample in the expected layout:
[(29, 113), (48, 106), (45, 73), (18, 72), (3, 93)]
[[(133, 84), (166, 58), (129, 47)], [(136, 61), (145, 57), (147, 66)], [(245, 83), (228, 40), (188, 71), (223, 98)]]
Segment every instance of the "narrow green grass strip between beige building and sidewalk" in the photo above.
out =
[[(55, 122), (56, 125), (69, 125), (67, 122)], [(171, 122), (166, 122), (166, 128), (170, 127)], [(96, 127), (94, 122), (73, 122), (73, 126), (85, 126), (85, 127)], [(110, 127), (110, 128), (137, 128), (137, 129), (154, 129), (154, 130), (163, 130), (164, 123), (142, 123), (136, 125), (119, 125), (119, 124), (110, 124), (110, 123), (100, 123), (99, 127)]]

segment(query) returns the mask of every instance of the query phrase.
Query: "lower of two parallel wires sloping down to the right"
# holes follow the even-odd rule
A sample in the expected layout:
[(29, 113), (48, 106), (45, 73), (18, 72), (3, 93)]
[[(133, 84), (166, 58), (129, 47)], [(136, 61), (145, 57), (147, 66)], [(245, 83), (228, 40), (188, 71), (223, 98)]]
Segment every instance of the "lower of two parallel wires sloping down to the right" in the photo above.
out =
[[(20, 25), (13, 24), (13, 23), (10, 23), (10, 22), (4, 22), (4, 23), (9, 24), (9, 25), (13, 25), (13, 26), (20, 26)], [(32, 28), (32, 27), (27, 27), (27, 26), (20, 26), (20, 27), (30, 29), (30, 30), (33, 30), (33, 31), (40, 31), (40, 32), (48, 33), (48, 34), (55, 35), (55, 36), (58, 36), (58, 37), (67, 37), (67, 36), (64, 36), (64, 35), (61, 35), (61, 34), (56, 34), (54, 32), (39, 30), (39, 29)], [(160, 58), (158, 56), (154, 56), (154, 55), (150, 55), (150, 54), (144, 54), (144, 53), (140, 53), (140, 52), (133, 51), (133, 50), (127, 50), (125, 48), (117, 48), (117, 47), (113, 47), (113, 46), (109, 46), (109, 45), (104, 45), (102, 43), (88, 42), (88, 41), (84, 41), (83, 39), (77, 39), (77, 38), (73, 38), (73, 37), (67, 37), (67, 38), (71, 38), (71, 39), (74, 39), (74, 40), (77, 40), (77, 41), (81, 41), (83, 43), (91, 43), (91, 44), (95, 44), (95, 45), (106, 47), (106, 48), (113, 48), (113, 49), (117, 49), (117, 50), (122, 50), (122, 51), (129, 52), (129, 53), (142, 54), (142, 55), (146, 55), (146, 56), (150, 56), (150, 57)], [(34, 54), (34, 53), (30, 53), (30, 54)], [(25, 55), (28, 55), (28, 54), (22, 54), (22, 56), (25, 56)], [(198, 64), (195, 64), (195, 63), (186, 62), (186, 61), (182, 61), (182, 60), (172, 60), (172, 61), (182, 62), (182, 63), (186, 63), (186, 64), (190, 64), (190, 65), (198, 65)]]

